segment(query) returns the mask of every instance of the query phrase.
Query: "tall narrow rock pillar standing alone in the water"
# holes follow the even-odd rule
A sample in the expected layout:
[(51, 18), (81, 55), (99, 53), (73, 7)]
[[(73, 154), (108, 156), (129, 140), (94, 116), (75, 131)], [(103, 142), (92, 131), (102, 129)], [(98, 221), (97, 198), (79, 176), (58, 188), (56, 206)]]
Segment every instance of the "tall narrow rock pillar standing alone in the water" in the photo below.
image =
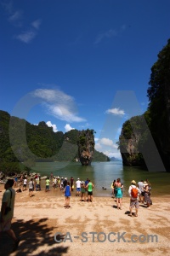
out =
[(94, 130), (79, 131), (77, 144), (82, 166), (90, 166), (94, 156)]

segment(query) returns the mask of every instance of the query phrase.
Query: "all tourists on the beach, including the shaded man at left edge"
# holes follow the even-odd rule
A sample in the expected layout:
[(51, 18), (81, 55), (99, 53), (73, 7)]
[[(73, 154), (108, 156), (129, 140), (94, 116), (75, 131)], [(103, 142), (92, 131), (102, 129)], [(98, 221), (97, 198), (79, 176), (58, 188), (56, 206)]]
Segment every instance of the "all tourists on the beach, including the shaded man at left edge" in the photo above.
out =
[[(70, 181), (67, 177), (53, 177), (53, 175), (46, 178), (45, 180), (45, 191), (50, 191), (50, 183), (52, 183), (53, 189), (59, 189), (65, 195), (65, 209), (70, 208), (70, 198), (71, 192), (76, 189), (77, 197), (80, 197), (80, 201), (88, 201), (93, 202), (93, 189), (94, 183), (92, 183), (88, 178), (86, 181), (81, 181), (80, 178), (77, 178), (77, 181), (71, 177)], [(29, 195), (32, 196), (33, 191), (36, 189), (41, 190), (41, 177), (36, 174), (35, 177), (31, 177), (29, 182), (27, 178), (21, 176), (18, 180), (17, 177), (13, 179), (8, 179), (7, 183), (5, 183), (4, 188), (6, 191), (3, 194), (3, 201), (1, 207), (1, 215), (0, 215), (0, 233), (6, 231), (8, 236), (10, 236), (14, 241), (14, 248), (15, 251), (20, 243), (20, 238), (15, 236), (14, 231), (11, 230), (11, 219), (13, 218), (14, 213), (14, 197), (15, 192), (20, 192), (19, 189), (12, 189), (18, 188), (20, 191), (25, 191), (27, 188), (29, 189)], [(22, 188), (21, 188), (22, 187)], [(105, 189), (103, 187), (103, 189)], [(116, 198), (116, 209), (122, 210), (122, 195), (123, 195), (123, 184), (120, 178), (111, 183), (112, 189), (112, 196)], [(137, 184), (134, 180), (131, 181), (131, 184), (128, 188), (128, 195), (130, 196), (130, 205), (129, 205), (129, 212), (128, 216), (138, 217), (139, 212), (139, 202), (143, 203), (146, 207), (150, 207), (152, 201), (150, 199), (150, 182), (146, 181), (139, 181)], [(144, 206), (143, 205), (143, 206)], [(135, 212), (133, 212), (133, 208), (135, 208)]]

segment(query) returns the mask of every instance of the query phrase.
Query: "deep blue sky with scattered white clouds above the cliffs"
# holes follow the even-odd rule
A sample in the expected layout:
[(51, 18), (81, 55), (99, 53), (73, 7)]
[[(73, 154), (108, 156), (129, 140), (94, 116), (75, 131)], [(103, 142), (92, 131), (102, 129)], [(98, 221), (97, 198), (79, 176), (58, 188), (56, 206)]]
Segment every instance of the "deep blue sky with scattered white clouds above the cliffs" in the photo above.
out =
[(120, 157), (122, 124), (148, 106), (170, 1), (0, 1), (0, 109), (54, 131), (94, 129)]

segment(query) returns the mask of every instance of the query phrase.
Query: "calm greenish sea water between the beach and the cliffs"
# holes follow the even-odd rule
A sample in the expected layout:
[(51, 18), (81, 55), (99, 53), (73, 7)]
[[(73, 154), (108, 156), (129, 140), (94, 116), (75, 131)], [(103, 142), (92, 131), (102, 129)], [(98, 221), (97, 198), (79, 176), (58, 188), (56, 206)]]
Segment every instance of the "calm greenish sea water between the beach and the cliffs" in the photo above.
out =
[[(111, 183), (120, 177), (124, 185), (123, 195), (127, 196), (130, 182), (134, 179), (137, 183), (146, 178), (151, 183), (152, 196), (170, 195), (170, 172), (148, 172), (139, 167), (122, 166), (122, 161), (92, 162), (91, 166), (82, 166), (79, 162), (53, 162), (37, 163), (31, 172), (40, 173), (41, 176), (71, 176), (75, 181), (77, 177), (85, 181), (87, 177), (94, 183), (95, 196), (111, 196)], [(105, 187), (105, 190), (102, 189)]]

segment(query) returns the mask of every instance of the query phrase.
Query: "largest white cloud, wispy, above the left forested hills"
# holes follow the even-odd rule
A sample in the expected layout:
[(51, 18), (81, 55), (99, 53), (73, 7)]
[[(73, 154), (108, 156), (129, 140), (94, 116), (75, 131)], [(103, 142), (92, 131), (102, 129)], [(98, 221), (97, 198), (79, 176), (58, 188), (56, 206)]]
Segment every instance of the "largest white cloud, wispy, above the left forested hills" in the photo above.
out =
[(37, 89), (33, 96), (43, 100), (48, 113), (66, 122), (84, 122), (86, 119), (77, 116), (77, 108), (72, 96), (61, 90)]

